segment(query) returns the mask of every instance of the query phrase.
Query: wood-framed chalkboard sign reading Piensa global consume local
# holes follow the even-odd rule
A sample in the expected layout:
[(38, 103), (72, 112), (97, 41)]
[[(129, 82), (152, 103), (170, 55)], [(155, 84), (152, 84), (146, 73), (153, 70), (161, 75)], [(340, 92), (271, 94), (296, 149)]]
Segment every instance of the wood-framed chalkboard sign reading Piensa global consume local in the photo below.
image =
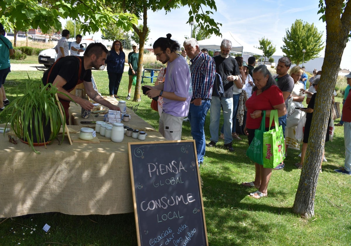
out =
[(195, 141), (128, 149), (138, 245), (208, 245)]

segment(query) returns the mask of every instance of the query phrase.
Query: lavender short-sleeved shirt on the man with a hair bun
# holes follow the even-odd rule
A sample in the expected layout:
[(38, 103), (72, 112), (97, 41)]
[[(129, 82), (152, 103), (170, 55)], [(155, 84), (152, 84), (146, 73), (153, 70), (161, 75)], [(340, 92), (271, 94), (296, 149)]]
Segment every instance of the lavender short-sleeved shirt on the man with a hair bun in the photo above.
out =
[(192, 97), (191, 75), (189, 65), (182, 56), (168, 63), (164, 91), (174, 92), (179, 97), (186, 97), (186, 101), (174, 101), (163, 98), (163, 111), (167, 114), (186, 117), (189, 112)]

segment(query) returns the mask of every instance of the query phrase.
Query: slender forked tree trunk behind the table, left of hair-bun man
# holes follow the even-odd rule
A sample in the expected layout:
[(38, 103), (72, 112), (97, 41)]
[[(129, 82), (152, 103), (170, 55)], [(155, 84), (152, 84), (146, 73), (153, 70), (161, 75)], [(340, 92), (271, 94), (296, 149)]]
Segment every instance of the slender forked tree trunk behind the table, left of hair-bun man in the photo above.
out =
[(138, 62), (138, 71), (137, 71), (137, 84), (135, 85), (134, 90), (134, 102), (141, 101), (140, 88), (141, 88), (141, 73), (143, 72), (143, 59), (144, 59), (144, 45), (145, 39), (148, 32), (147, 28), (147, 7), (144, 4), (143, 7), (143, 30), (139, 30), (137, 26), (133, 25), (134, 31), (139, 36), (139, 62)]

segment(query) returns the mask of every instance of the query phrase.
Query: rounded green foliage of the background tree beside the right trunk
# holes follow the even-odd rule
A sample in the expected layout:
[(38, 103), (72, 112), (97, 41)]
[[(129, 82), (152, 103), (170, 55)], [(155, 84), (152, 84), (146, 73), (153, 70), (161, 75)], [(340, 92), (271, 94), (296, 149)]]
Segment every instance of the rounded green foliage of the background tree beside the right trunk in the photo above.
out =
[[(322, 41), (323, 32), (318, 32), (314, 24), (296, 20), (291, 29), (286, 30), (286, 36), (283, 38), (284, 45), (282, 51), (290, 58), (291, 62), (299, 65), (319, 57), (319, 52), (323, 50), (324, 43)], [(305, 56), (302, 50), (305, 49)]]

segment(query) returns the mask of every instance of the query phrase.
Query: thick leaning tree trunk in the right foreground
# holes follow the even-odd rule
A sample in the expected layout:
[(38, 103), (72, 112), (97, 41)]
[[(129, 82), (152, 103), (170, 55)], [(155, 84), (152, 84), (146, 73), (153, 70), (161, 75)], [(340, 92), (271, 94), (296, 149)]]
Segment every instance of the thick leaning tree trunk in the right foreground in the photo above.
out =
[[(294, 205), (294, 213), (308, 218), (314, 216), (320, 163), (323, 158), (327, 123), (330, 117), (332, 94), (335, 89), (339, 66), (351, 29), (351, 3), (347, 2), (340, 18), (343, 0), (325, 0), (326, 46), (322, 75), (313, 111), (309, 143), (300, 175)], [(314, 127), (313, 127), (314, 126)]]

